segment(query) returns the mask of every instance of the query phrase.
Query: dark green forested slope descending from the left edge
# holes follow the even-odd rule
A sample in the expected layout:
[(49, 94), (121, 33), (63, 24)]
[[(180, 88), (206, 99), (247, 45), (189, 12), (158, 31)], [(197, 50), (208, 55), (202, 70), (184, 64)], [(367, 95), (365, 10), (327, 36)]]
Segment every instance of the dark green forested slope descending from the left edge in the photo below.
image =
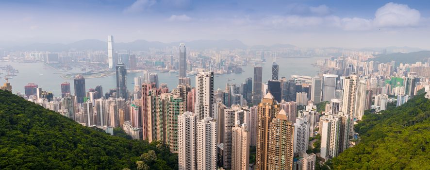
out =
[(177, 161), (163, 144), (110, 136), (0, 90), (1, 170), (169, 170)]

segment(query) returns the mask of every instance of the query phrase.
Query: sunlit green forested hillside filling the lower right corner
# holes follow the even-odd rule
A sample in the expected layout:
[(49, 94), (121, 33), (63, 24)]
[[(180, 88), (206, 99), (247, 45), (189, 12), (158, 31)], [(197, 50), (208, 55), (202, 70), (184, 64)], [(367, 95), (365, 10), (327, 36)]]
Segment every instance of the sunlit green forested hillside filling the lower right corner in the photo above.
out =
[(333, 158), (332, 170), (430, 170), (430, 101), (418, 95), (355, 125), (361, 143)]

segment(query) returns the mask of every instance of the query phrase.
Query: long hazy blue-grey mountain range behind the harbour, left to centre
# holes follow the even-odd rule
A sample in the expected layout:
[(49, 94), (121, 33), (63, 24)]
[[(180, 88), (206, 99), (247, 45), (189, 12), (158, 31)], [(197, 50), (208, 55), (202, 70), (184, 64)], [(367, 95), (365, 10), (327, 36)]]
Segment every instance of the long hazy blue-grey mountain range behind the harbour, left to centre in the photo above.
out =
[[(115, 43), (116, 50), (147, 51), (149, 48), (165, 48), (179, 46), (181, 42), (163, 43), (158, 41), (135, 40), (127, 43)], [(195, 40), (185, 42), (189, 49), (246, 49), (248, 48), (239, 40)], [(84, 39), (69, 44), (60, 43), (33, 43), (25, 46), (13, 46), (6, 48), (9, 50), (22, 51), (68, 51), (68, 50), (107, 50), (107, 42), (97, 39)]]

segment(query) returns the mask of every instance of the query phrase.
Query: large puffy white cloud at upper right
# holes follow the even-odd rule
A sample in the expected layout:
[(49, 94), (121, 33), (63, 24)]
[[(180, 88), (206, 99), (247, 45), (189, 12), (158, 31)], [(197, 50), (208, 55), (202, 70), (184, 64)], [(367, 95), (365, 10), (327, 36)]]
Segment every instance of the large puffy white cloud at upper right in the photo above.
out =
[(418, 10), (390, 2), (376, 11), (373, 23), (377, 27), (407, 27), (418, 25), (420, 18)]

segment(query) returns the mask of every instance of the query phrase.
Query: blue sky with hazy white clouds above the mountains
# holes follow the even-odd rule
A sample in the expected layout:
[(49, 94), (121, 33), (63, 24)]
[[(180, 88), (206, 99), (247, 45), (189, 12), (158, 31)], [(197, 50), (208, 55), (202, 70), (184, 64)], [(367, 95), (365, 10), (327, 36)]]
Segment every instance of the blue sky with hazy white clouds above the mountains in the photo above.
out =
[(430, 0), (0, 0), (0, 42), (82, 39), (430, 49)]

